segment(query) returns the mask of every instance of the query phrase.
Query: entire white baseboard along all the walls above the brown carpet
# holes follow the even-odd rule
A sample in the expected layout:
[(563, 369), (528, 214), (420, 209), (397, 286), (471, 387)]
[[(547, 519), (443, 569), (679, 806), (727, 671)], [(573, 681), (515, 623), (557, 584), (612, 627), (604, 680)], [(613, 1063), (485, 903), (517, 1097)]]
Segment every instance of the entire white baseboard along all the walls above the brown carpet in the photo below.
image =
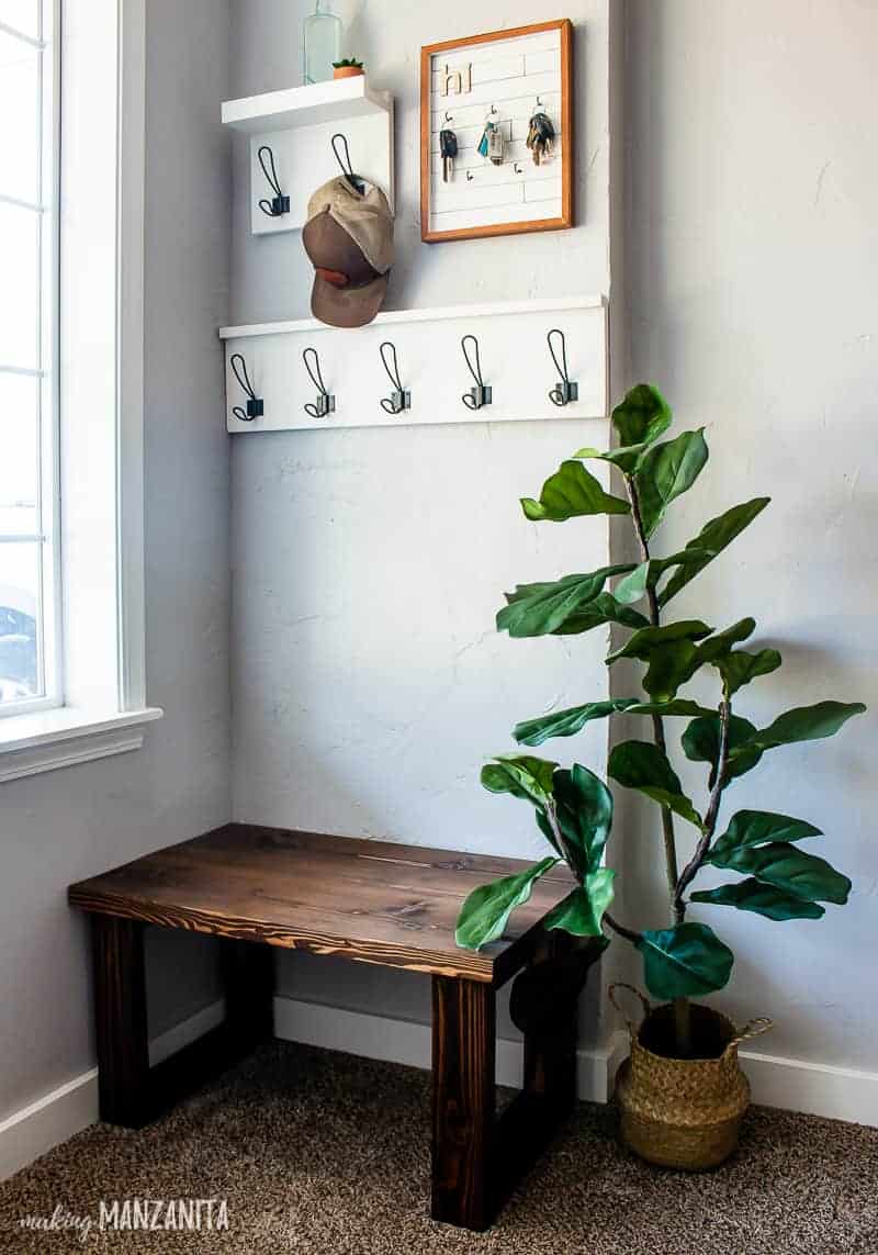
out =
[[(149, 1043), (149, 1062), (161, 1063), (222, 1022), (222, 1000), (211, 1003)], [(365, 1012), (350, 1012), (295, 998), (275, 998), (275, 1034), (330, 1050), (346, 1050), (369, 1059), (430, 1065), (430, 1027)], [(607, 1102), (616, 1069), (627, 1054), (627, 1034), (613, 1034), (603, 1048), (578, 1052), (579, 1098)], [(878, 1072), (807, 1063), (774, 1054), (741, 1052), (753, 1101), (766, 1107), (809, 1112), (855, 1124), (878, 1127)], [(522, 1047), (500, 1038), (497, 1043), (497, 1081), (521, 1084)], [(43, 1098), (0, 1121), (0, 1181), (26, 1167), (53, 1146), (98, 1118), (98, 1069), (90, 1068)]]

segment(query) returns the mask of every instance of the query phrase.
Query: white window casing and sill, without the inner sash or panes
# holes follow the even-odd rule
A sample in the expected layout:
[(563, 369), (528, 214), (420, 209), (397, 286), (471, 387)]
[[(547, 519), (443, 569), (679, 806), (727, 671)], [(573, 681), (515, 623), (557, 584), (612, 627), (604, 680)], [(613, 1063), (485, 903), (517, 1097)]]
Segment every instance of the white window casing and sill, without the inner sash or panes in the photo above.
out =
[[(162, 717), (145, 700), (144, 0), (60, 3), (64, 700), (0, 719), (0, 784), (137, 749)], [(80, 601), (99, 607), (94, 634)]]

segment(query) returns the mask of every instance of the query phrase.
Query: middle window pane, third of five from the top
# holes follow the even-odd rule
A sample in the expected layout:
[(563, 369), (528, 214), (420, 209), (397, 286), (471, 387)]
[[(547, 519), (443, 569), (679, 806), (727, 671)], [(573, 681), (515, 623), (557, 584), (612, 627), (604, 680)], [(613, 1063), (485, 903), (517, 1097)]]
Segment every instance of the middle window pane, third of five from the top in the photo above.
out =
[(0, 365), (38, 366), (39, 213), (0, 202)]

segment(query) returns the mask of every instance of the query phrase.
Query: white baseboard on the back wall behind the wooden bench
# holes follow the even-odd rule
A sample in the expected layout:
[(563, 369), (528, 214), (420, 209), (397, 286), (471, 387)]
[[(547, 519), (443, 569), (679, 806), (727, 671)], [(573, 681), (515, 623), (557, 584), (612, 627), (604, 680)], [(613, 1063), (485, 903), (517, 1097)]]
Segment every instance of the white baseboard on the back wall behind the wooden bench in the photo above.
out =
[[(329, 1050), (346, 1050), (349, 1054), (360, 1054), (368, 1059), (406, 1063), (413, 1068), (430, 1067), (430, 1025), (414, 1020), (389, 1019), (368, 1012), (349, 1012), (322, 1003), (304, 1003), (296, 998), (275, 998), (275, 1037), (285, 1042), (320, 1045)], [(579, 1098), (588, 1102), (607, 1102), (626, 1045), (625, 1034), (617, 1033), (606, 1048), (578, 1052)], [(521, 1042), (498, 1039), (497, 1083), (521, 1087)]]

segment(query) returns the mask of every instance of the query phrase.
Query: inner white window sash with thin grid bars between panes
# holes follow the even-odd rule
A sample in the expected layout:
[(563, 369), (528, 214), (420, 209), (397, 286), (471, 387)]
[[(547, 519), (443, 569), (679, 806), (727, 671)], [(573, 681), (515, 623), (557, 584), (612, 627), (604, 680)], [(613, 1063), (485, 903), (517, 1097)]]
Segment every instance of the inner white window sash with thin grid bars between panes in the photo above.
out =
[[(36, 432), (39, 476), (36, 486), (36, 530), (33, 533), (3, 536), (4, 545), (38, 546), (38, 674), (43, 694), (0, 704), (0, 719), (15, 719), (36, 710), (63, 705), (61, 656), (61, 579), (59, 523), (59, 392), (58, 392), (58, 272), (59, 272), (59, 149), (60, 149), (60, 39), (59, 0), (39, 0), (36, 35), (0, 23), (10, 39), (31, 48), (36, 56), (38, 92), (38, 201), (31, 203), (4, 196), (0, 201), (23, 213), (34, 213), (38, 225), (38, 305), (39, 346), (35, 366), (14, 366), (3, 360), (8, 375), (38, 380)], [(46, 18), (49, 19), (46, 21)], [(48, 26), (48, 30), (46, 30)], [(50, 59), (46, 74), (46, 59)], [(46, 79), (50, 90), (46, 90)], [(48, 177), (46, 177), (48, 176)], [(49, 309), (46, 309), (49, 306)], [(0, 728), (3, 724), (0, 724)]]

